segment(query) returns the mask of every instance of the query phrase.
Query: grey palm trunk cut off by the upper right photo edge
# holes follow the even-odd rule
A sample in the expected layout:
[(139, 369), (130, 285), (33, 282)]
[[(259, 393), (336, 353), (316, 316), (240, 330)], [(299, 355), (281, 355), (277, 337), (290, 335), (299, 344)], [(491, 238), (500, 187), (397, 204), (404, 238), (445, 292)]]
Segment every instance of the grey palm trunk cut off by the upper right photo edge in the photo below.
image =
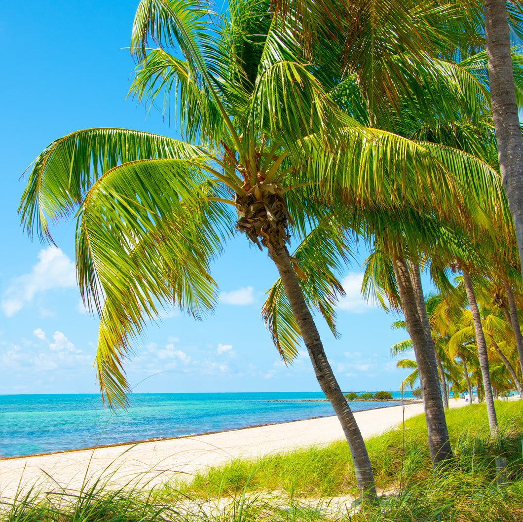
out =
[(484, 0), (484, 2), (488, 80), (499, 168), (514, 220), (519, 259), (523, 270), (523, 141), (514, 88), (507, 4), (506, 0)]

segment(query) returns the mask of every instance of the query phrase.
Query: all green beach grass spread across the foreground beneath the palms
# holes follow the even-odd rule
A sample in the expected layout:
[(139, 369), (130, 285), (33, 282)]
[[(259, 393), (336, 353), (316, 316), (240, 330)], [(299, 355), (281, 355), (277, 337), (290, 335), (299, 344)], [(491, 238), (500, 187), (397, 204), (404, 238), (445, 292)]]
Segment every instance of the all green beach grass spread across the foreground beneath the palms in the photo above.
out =
[[(423, 415), (368, 440), (378, 488), (386, 496), (359, 512), (345, 442), (257, 461), (235, 460), (149, 492), (98, 483), (80, 492), (30, 492), (0, 506), (2, 522), (519, 522), (523, 520), (523, 401), (497, 402), (500, 434), (488, 434), (485, 406), (447, 412), (454, 460), (431, 470)], [(495, 458), (508, 484), (496, 486)], [(347, 496), (342, 509), (329, 498)], [(342, 497), (343, 498), (343, 497)], [(357, 504), (357, 501), (356, 501)]]

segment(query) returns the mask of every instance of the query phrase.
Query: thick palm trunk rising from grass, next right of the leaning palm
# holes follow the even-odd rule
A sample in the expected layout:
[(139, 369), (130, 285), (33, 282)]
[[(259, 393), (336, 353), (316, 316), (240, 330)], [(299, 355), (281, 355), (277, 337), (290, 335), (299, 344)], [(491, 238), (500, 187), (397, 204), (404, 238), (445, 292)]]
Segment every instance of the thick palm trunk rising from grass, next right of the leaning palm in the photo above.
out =
[(423, 408), (427, 421), (428, 445), (433, 468), (437, 468), (446, 459), (452, 457), (445, 409), (439, 389), (436, 356), (433, 347), (428, 346), (428, 339), (423, 327), (411, 276), (405, 260), (394, 255), (392, 258), (397, 288), (400, 293), (403, 314), (408, 335), (411, 336), (416, 360), (420, 371), (419, 380), (423, 392)]

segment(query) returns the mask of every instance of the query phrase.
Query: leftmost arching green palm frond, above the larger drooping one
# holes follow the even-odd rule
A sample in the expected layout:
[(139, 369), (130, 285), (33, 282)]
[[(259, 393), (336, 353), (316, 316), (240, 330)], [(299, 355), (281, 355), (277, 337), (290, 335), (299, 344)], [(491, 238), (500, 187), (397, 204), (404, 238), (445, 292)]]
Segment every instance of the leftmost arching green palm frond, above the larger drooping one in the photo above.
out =
[(109, 169), (148, 158), (201, 158), (201, 147), (157, 134), (100, 128), (72, 132), (53, 141), (37, 157), (18, 212), (32, 235), (52, 241), (49, 224), (69, 217), (87, 191)]

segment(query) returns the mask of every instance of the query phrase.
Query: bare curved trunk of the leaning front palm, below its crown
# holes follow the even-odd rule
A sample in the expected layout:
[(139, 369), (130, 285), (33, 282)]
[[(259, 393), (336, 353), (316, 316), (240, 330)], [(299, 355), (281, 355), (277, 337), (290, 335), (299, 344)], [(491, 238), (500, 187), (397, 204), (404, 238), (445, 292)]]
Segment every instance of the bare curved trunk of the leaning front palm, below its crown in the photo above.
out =
[(300, 327), (303, 341), (309, 352), (316, 379), (320, 383), (320, 387), (323, 393), (325, 393), (326, 398), (331, 401), (339, 422), (342, 425), (353, 459), (356, 481), (362, 500), (375, 503), (378, 497), (365, 442), (361, 436), (354, 414), (343, 396), (331, 365), (329, 365), (320, 334), (317, 331), (312, 314), (303, 298), (298, 278), (292, 267), (289, 252), (285, 246), (274, 243), (269, 244), (267, 248), (269, 257), (278, 268), (292, 313)]

